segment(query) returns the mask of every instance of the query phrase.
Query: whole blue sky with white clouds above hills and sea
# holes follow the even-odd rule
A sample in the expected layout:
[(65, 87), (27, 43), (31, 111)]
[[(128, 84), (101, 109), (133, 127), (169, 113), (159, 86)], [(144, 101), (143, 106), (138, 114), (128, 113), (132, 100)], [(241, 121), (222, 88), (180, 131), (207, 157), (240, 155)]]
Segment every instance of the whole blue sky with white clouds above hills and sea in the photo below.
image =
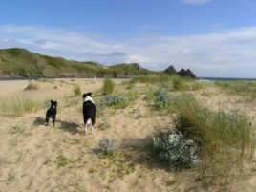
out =
[(0, 0), (0, 49), (256, 78), (256, 0)]

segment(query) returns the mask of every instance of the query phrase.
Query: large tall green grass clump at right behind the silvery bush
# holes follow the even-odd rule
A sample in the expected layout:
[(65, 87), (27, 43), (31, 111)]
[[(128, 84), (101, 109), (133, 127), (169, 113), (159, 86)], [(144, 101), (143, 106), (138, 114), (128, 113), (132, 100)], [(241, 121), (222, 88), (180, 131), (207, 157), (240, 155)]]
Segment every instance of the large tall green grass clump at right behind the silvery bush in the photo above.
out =
[(177, 96), (173, 107), (178, 115), (176, 129), (199, 146), (200, 180), (243, 176), (255, 142), (249, 117), (235, 110), (211, 111), (190, 94)]

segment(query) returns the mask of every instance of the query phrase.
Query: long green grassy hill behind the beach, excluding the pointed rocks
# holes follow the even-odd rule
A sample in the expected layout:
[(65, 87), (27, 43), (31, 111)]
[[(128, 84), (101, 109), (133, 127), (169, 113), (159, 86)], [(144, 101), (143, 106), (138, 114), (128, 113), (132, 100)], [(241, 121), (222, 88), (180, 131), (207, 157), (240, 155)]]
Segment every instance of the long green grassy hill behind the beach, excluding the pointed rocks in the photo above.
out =
[(96, 62), (78, 62), (62, 57), (32, 53), (25, 49), (0, 49), (0, 76), (92, 77), (157, 74), (137, 63), (105, 66)]

